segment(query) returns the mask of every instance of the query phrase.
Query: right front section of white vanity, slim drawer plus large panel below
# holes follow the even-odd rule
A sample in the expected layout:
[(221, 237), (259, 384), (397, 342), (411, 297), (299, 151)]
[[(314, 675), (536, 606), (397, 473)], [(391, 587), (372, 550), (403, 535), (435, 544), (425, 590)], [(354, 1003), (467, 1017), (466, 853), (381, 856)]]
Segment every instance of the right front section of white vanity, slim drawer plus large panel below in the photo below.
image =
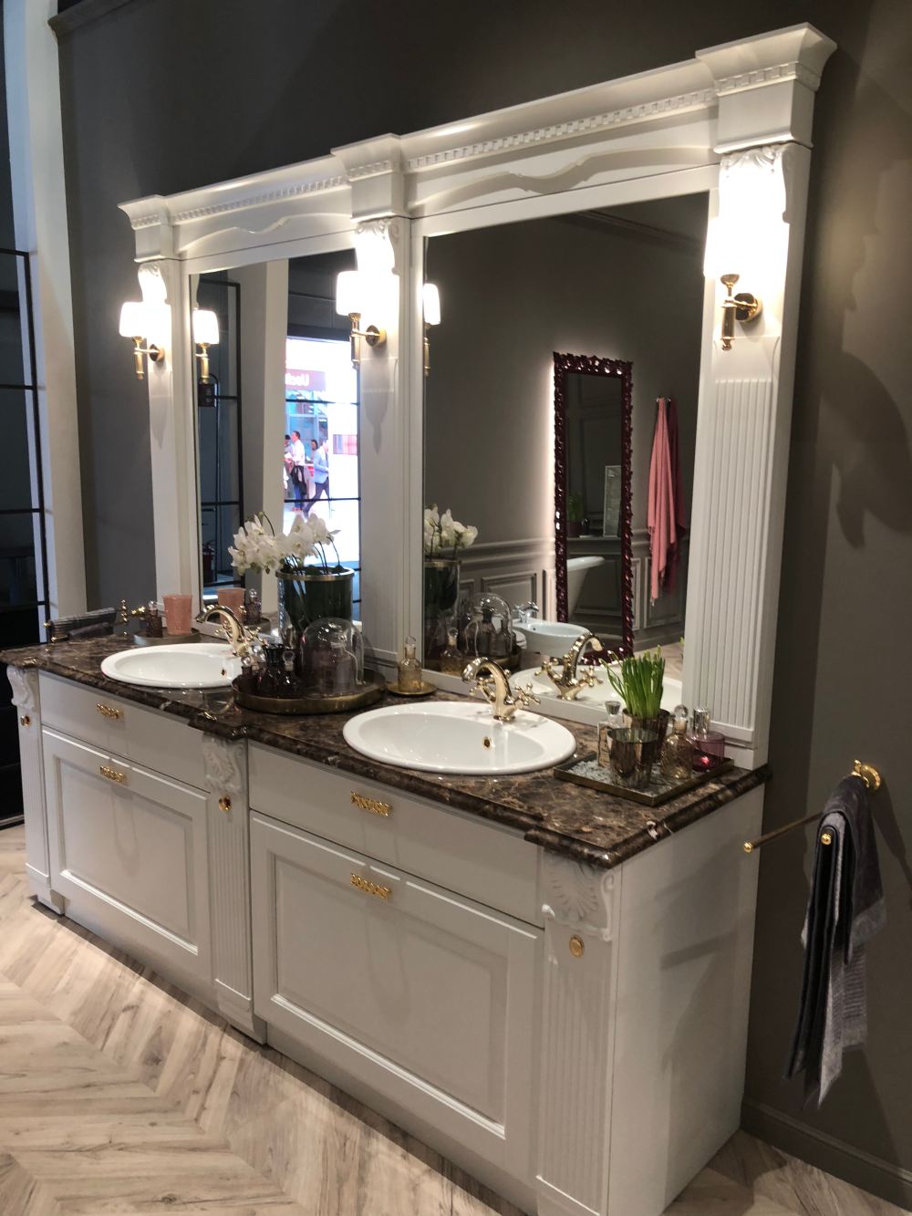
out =
[(534, 1176), (539, 850), (257, 744), (249, 769), (269, 1041), (529, 1206), (516, 1180)]

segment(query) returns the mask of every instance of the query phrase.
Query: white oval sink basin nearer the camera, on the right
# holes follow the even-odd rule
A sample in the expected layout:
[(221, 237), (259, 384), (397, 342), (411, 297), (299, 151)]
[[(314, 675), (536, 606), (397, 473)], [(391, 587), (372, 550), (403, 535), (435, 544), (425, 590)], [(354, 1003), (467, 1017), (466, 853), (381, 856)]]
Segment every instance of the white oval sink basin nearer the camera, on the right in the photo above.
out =
[(345, 742), (361, 755), (398, 769), (499, 777), (551, 769), (576, 749), (570, 732), (519, 710), (510, 722), (490, 705), (429, 702), (372, 709), (345, 722)]

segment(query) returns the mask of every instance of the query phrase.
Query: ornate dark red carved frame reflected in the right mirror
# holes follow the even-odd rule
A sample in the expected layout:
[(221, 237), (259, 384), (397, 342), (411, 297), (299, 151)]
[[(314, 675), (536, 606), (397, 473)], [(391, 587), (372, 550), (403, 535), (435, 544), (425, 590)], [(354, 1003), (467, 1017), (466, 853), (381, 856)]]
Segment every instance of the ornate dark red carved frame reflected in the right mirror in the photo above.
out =
[(599, 359), (598, 355), (572, 355), (554, 351), (554, 587), (557, 619), (567, 620), (567, 376), (619, 376), (621, 407), (621, 474), (620, 474), (620, 597), (621, 641), (615, 648), (620, 658), (634, 653), (634, 556), (631, 528), (634, 506), (631, 491), (632, 463), (632, 393), (634, 365), (624, 359)]

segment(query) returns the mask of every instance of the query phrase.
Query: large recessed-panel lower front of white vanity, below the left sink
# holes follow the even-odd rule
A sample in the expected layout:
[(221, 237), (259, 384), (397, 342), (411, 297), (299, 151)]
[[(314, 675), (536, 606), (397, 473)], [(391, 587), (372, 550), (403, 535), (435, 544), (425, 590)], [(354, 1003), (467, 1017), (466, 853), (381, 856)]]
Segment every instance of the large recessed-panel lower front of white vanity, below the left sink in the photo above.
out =
[(56, 731), (44, 731), (44, 758), (54, 882), (75, 919), (153, 966), (190, 968), (198, 987), (209, 966), (206, 796)]

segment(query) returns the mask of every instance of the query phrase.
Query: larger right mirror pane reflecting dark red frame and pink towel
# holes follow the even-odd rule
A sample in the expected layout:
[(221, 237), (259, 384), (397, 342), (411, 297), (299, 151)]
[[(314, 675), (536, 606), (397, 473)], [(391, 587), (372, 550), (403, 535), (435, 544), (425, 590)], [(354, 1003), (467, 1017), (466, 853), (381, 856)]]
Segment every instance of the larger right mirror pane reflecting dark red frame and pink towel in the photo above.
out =
[[(494, 596), (613, 651), (662, 646), (680, 689), (706, 208), (686, 195), (428, 238), (441, 320), (427, 331), (424, 502), (478, 530), (449, 596), (426, 575), (432, 666), (445, 619)], [(674, 546), (668, 529), (657, 545), (655, 503), (651, 529), (663, 485)], [(544, 653), (525, 651), (523, 665)]]

